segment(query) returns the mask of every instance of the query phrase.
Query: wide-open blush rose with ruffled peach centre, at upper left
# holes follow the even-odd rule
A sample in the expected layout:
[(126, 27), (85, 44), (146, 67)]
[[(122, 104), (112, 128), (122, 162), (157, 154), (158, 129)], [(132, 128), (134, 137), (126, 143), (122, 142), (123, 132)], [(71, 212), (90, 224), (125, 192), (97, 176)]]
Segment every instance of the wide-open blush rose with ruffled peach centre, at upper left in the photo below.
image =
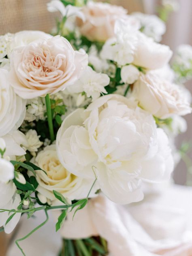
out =
[(24, 99), (56, 93), (73, 84), (87, 67), (87, 54), (62, 36), (16, 47), (11, 53), (11, 85)]

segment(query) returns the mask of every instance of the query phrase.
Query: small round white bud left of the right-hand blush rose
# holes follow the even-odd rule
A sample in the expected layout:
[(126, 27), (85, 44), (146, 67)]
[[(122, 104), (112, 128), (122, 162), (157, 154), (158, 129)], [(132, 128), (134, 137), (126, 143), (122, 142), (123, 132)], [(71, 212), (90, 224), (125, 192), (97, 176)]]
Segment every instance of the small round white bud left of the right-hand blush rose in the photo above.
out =
[(133, 65), (123, 66), (121, 78), (124, 83), (132, 84), (139, 78), (139, 70)]

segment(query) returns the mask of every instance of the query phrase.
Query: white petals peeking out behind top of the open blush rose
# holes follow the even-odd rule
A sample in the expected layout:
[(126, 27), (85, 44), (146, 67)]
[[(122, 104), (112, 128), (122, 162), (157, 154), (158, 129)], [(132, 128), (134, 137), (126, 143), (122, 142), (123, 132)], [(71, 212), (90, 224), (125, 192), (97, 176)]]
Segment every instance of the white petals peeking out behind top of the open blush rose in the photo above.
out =
[(36, 41), (38, 39), (48, 39), (52, 36), (50, 34), (46, 34), (45, 32), (38, 30), (23, 30), (17, 32), (13, 35), (12, 40), (7, 44), (6, 51), (8, 58), (11, 57), (11, 52), (17, 46), (24, 46)]

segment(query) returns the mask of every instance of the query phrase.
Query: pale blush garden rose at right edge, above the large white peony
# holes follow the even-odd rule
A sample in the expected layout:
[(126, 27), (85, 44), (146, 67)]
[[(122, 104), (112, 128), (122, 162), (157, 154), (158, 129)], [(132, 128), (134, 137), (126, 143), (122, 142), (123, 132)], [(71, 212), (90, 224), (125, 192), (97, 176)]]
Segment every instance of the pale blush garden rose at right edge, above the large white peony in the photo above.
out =
[(140, 75), (134, 84), (133, 95), (143, 109), (161, 119), (192, 111), (188, 95), (181, 86), (162, 80), (152, 72)]

